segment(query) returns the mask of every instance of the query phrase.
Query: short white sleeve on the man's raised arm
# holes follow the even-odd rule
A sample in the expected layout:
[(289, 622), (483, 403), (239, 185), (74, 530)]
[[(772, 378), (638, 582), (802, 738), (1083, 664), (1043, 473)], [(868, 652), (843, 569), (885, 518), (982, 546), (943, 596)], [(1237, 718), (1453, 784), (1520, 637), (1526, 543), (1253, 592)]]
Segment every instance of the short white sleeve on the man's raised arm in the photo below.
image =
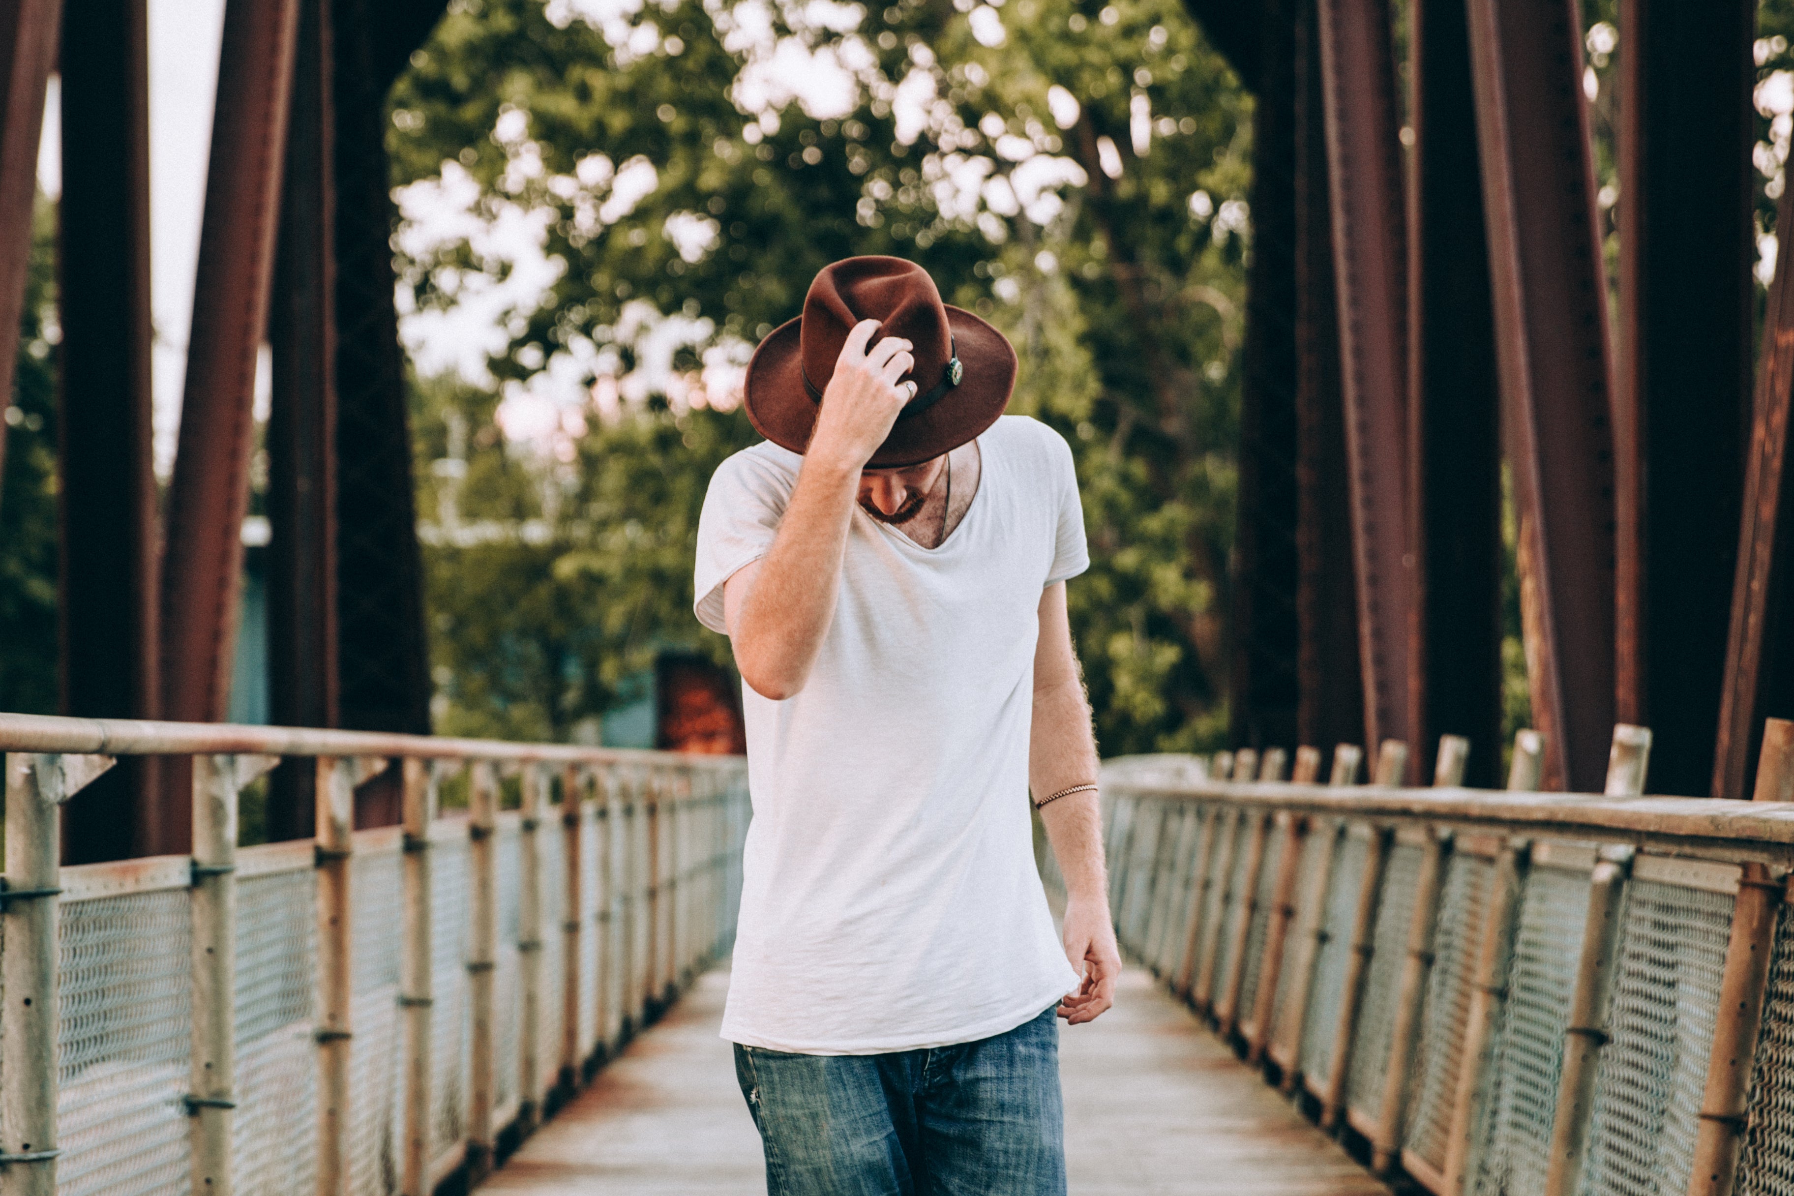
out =
[(802, 457), (777, 445), (755, 445), (723, 461), (710, 475), (698, 516), (698, 559), (692, 568), (692, 611), (710, 631), (728, 635), (723, 583), (773, 547), (797, 484), (798, 461)]

